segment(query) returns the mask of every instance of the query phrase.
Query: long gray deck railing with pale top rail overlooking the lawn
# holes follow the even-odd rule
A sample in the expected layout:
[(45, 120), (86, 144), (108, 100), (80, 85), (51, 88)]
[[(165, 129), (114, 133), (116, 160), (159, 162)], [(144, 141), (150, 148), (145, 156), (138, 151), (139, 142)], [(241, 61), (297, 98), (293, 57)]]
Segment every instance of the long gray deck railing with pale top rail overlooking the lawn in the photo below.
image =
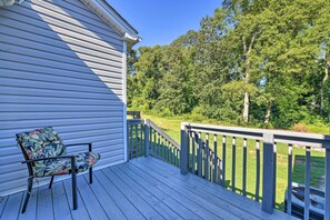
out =
[[(211, 138), (212, 137), (212, 140)], [(242, 142), (242, 158), (237, 158), (237, 140)], [(220, 143), (219, 143), (220, 140)], [(229, 143), (229, 140), (231, 141)], [(330, 136), (301, 133), (280, 130), (263, 130), (249, 128), (234, 128), (221, 126), (207, 126), (196, 123), (181, 124), (181, 173), (192, 172), (224, 188), (228, 188), (230, 177), (230, 190), (237, 191), (237, 164), (242, 163), (241, 168), (241, 191), (247, 197), (247, 178), (248, 178), (248, 144), (254, 144), (256, 157), (256, 179), (254, 179), (254, 200), (262, 200), (262, 210), (272, 213), (276, 207), (276, 188), (277, 188), (277, 147), (287, 148), (287, 189), (292, 191), (292, 152), (293, 148), (303, 148), (304, 156), (304, 213), (303, 218), (310, 218), (310, 180), (311, 180), (311, 149), (326, 152), (324, 168), (324, 219), (330, 219)], [(231, 152), (231, 172), (227, 173), (228, 156)], [(220, 150), (221, 149), (221, 150)], [(251, 149), (251, 148), (249, 148)], [(220, 157), (221, 154), (221, 157)], [(262, 158), (262, 161), (261, 161)], [(281, 160), (283, 160), (281, 158)], [(262, 169), (261, 169), (262, 168)], [(261, 173), (262, 170), (262, 173)], [(249, 182), (250, 183), (250, 182)], [(262, 199), (259, 196), (262, 190)], [(282, 192), (284, 193), (284, 192)], [(287, 212), (292, 211), (291, 193), (287, 196)]]

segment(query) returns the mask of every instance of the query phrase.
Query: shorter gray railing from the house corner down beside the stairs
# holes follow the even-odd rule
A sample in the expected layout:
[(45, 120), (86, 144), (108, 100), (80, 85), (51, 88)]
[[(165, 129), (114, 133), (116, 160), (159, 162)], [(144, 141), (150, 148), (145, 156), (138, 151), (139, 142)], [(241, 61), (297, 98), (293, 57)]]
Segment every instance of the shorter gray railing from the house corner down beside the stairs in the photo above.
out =
[(127, 120), (128, 158), (152, 156), (173, 166), (180, 166), (180, 146), (148, 119)]

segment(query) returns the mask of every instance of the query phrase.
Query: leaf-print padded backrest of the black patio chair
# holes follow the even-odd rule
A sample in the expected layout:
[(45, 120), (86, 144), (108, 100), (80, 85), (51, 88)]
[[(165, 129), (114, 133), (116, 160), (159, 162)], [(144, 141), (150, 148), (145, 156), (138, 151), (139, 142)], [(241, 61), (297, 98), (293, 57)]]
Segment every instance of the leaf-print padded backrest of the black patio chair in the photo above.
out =
[(26, 160), (63, 156), (67, 148), (52, 127), (16, 134)]

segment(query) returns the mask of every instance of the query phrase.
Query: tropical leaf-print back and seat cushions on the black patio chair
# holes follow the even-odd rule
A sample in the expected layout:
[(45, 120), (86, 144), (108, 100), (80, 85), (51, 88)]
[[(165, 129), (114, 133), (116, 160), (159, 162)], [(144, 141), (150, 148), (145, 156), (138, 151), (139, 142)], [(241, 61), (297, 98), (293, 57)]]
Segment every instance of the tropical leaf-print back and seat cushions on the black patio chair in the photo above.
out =
[[(29, 159), (40, 159), (57, 156), (66, 156), (67, 148), (52, 127), (37, 129), (16, 134), (17, 141), (26, 151)], [(76, 154), (76, 168), (83, 172), (92, 167), (99, 159), (99, 153), (83, 152)], [(70, 173), (71, 159), (43, 160), (32, 166), (34, 177)]]

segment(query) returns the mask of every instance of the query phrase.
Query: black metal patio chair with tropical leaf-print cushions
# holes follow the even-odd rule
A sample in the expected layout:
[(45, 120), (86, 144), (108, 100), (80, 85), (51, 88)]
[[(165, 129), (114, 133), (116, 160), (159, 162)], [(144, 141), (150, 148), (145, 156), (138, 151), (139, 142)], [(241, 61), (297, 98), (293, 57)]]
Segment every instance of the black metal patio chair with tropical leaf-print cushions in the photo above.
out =
[[(92, 143), (64, 144), (52, 127), (16, 134), (27, 163), (29, 178), (22, 213), (26, 212), (32, 191), (33, 178), (51, 177), (51, 189), (54, 176), (71, 174), (73, 210), (77, 210), (77, 172), (89, 169), (89, 182), (92, 183), (92, 166), (100, 159), (99, 153), (92, 152)], [(89, 151), (67, 154), (67, 147), (88, 146)]]

